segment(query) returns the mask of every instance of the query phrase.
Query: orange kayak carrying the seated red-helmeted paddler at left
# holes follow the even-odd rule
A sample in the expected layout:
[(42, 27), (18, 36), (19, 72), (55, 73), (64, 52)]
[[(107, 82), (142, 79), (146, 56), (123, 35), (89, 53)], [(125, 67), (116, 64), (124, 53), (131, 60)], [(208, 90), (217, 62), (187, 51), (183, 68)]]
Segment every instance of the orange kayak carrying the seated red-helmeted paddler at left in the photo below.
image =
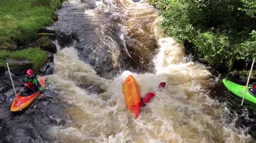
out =
[[(45, 84), (45, 78), (44, 77), (39, 77), (38, 82), (41, 84), (42, 88), (44, 88), (44, 84)], [(30, 96), (21, 96), (20, 92), (17, 94), (17, 97), (14, 98), (14, 102), (12, 102), (11, 105), (11, 112), (18, 112), (19, 110), (19, 106), (18, 106), (18, 101), (17, 98), (19, 99), (19, 104), (21, 104), (21, 109), (24, 110), (25, 108), (27, 108), (33, 101), (35, 101), (35, 99), (38, 97), (38, 95), (40, 94), (39, 91), (37, 91), (36, 93), (30, 95)]]

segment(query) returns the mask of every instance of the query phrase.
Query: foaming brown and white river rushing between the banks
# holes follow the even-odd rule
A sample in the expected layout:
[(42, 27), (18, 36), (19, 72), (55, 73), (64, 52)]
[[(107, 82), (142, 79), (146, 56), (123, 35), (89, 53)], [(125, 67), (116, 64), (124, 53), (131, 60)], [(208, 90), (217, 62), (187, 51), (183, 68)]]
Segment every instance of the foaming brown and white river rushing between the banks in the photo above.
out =
[[(56, 102), (38, 99), (17, 116), (8, 106), (14, 96), (2, 99), (0, 141), (255, 141), (253, 106), (241, 108), (221, 84), (225, 75), (194, 62), (166, 37), (157, 12), (148, 1), (64, 2), (48, 28), (76, 33), (79, 40), (54, 41), (58, 52), (46, 95)], [(142, 96), (167, 83), (138, 119), (125, 108), (122, 83), (129, 74)]]

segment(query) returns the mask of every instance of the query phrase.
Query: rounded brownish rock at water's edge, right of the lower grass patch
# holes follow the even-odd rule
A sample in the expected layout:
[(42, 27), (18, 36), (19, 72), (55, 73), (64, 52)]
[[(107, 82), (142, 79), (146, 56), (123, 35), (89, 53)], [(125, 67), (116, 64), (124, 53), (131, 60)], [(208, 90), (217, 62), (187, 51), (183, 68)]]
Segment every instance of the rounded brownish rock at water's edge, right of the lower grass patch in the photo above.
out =
[(57, 47), (55, 44), (52, 43), (51, 39), (48, 37), (41, 37), (39, 38), (36, 42), (35, 45), (44, 51), (49, 51), (51, 53), (56, 53), (57, 52)]

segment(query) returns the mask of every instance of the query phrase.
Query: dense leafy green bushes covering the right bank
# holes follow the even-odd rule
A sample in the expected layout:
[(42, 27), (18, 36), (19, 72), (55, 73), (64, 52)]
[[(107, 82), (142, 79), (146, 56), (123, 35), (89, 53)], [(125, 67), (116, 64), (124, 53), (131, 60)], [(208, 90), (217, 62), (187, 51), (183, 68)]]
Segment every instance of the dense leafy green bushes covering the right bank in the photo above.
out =
[(152, 0), (170, 37), (215, 68), (245, 66), (256, 54), (255, 1)]

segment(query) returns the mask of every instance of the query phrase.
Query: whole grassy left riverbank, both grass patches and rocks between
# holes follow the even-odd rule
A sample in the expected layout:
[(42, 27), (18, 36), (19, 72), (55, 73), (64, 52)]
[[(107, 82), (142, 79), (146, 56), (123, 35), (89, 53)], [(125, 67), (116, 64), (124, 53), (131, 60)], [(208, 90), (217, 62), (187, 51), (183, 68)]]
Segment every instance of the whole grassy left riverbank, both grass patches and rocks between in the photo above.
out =
[[(40, 45), (45, 42), (41, 39), (36, 44), (31, 43), (41, 38), (37, 35), (39, 28), (50, 26), (58, 19), (55, 11), (61, 8), (62, 2), (63, 0), (0, 2), (0, 67), (5, 66), (6, 60), (28, 60), (26, 62), (31, 63), (30, 67), (37, 70), (47, 61), (45, 45)], [(45, 37), (43, 40), (48, 41)]]

